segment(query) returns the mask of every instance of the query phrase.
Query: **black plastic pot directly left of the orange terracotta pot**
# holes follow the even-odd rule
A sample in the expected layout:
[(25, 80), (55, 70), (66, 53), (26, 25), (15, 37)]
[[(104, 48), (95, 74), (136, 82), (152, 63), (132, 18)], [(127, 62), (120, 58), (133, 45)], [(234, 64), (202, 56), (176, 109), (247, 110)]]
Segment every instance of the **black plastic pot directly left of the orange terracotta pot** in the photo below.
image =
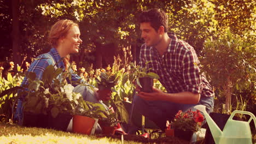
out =
[(72, 115), (66, 113), (59, 113), (55, 118), (49, 114), (48, 126), (51, 129), (66, 131), (71, 118)]

